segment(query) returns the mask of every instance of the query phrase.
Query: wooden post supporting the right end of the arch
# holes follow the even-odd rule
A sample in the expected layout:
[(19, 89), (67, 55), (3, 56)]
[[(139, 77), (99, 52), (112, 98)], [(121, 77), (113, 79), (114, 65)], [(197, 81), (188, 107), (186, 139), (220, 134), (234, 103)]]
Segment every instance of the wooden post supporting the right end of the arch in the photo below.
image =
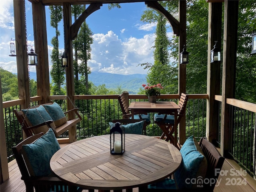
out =
[[(179, 36), (179, 54), (183, 50), (183, 46), (186, 46), (186, 0), (179, 0), (179, 22), (180, 22), (180, 36)], [(180, 64), (179, 55), (179, 76), (178, 76), (178, 92), (186, 94), (186, 64)], [(185, 112), (186, 114), (186, 112)], [(186, 116), (180, 120), (178, 131), (179, 143), (183, 144), (186, 140)]]

